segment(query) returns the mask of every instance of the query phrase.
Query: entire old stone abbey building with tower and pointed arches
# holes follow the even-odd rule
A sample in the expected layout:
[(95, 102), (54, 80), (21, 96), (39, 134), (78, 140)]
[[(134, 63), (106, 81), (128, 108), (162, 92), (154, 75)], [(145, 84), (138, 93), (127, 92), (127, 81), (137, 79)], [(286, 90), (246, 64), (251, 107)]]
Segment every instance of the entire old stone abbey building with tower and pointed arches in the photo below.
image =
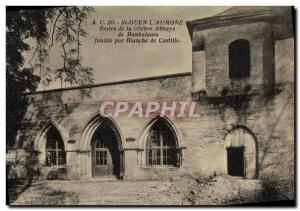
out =
[[(84, 100), (82, 87), (28, 93), (17, 143), (42, 178), (293, 178), (292, 20), (290, 7), (233, 7), (188, 21), (191, 72), (96, 84)], [(106, 101), (196, 102), (200, 117), (106, 117)]]

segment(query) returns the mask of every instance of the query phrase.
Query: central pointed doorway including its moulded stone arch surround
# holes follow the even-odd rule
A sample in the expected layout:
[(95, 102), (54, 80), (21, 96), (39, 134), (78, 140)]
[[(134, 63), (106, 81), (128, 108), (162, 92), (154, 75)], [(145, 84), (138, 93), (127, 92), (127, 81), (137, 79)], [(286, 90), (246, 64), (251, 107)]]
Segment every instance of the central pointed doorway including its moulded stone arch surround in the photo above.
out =
[[(123, 136), (117, 123), (110, 117), (103, 117), (99, 112), (95, 113), (85, 124), (82, 137), (78, 142), (80, 149), (80, 177), (109, 177), (123, 179), (124, 175), (124, 150)], [(97, 152), (98, 151), (98, 155)], [(100, 153), (100, 151), (102, 151)], [(105, 155), (106, 153), (110, 153)], [(101, 154), (101, 155), (100, 155)], [(98, 162), (99, 168), (104, 165), (111, 156), (112, 174), (98, 174), (93, 170)], [(98, 161), (97, 161), (98, 159)], [(101, 160), (101, 161), (100, 161)], [(103, 167), (103, 166), (102, 166)], [(111, 167), (112, 168), (112, 167)]]

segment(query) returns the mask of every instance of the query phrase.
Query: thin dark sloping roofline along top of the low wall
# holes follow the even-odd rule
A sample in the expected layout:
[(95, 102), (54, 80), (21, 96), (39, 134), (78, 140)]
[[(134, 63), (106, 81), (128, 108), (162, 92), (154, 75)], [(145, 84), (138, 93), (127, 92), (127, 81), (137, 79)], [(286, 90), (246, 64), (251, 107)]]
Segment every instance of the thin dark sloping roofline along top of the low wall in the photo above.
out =
[(190, 75), (192, 75), (191, 72), (175, 73), (175, 74), (169, 74), (169, 75), (150, 76), (150, 77), (144, 77), (144, 78), (135, 78), (135, 79), (126, 79), (126, 80), (121, 80), (121, 81), (104, 82), (104, 83), (98, 83), (98, 84), (87, 85), (87, 86), (75, 86), (75, 87), (42, 90), (42, 91), (36, 91), (36, 92), (27, 92), (24, 94), (25, 95), (34, 95), (34, 94), (44, 94), (44, 93), (51, 93), (51, 92), (63, 92), (63, 91), (76, 90), (76, 89), (86, 89), (86, 88), (95, 88), (95, 87), (110, 86), (110, 85), (117, 85), (117, 84), (136, 83), (136, 82), (159, 80), (159, 79), (166, 79), (166, 78), (190, 76)]

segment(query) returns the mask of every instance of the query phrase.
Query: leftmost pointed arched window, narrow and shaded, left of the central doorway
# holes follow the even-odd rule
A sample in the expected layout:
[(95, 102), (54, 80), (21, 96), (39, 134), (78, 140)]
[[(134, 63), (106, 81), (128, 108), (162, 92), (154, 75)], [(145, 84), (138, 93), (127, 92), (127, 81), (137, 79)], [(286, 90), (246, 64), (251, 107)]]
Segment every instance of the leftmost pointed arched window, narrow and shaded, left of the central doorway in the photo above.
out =
[(66, 164), (66, 152), (60, 133), (51, 127), (46, 134), (46, 165), (62, 166)]

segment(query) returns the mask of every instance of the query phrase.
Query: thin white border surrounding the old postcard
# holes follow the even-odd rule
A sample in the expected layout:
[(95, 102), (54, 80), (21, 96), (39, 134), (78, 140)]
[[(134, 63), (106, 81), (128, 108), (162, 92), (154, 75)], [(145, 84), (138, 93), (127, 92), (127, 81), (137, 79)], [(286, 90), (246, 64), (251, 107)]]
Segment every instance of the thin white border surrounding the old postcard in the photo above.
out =
[[(117, 6), (117, 5), (142, 5), (142, 6), (233, 6), (233, 5), (247, 5), (247, 6), (258, 6), (258, 5), (294, 5), (296, 8), (299, 8), (299, 3), (300, 1), (296, 0), (230, 0), (230, 1), (225, 1), (225, 0), (206, 0), (206, 1), (197, 1), (197, 0), (184, 0), (184, 1), (178, 1), (178, 0), (152, 0), (152, 1), (141, 1), (141, 0), (126, 0), (126, 1), (120, 1), (120, 0), (101, 0), (101, 1), (96, 1), (96, 0), (51, 0), (51, 1), (41, 1), (41, 0), (26, 0), (26, 1), (21, 1), (21, 0), (2, 0), (0, 1), (0, 30), (1, 30), (1, 36), (0, 36), (0, 45), (1, 45), (1, 50), (0, 50), (0, 64), (1, 64), (1, 71), (0, 71), (0, 78), (1, 83), (0, 83), (0, 97), (1, 97), (1, 106), (0, 106), (0, 116), (1, 118), (1, 123), (0, 123), (0, 139), (1, 139), (1, 145), (0, 145), (0, 151), (1, 151), (1, 174), (0, 174), (0, 181), (1, 181), (1, 191), (0, 191), (0, 199), (1, 199), (1, 209), (3, 210), (12, 210), (16, 208), (8, 208), (5, 205), (5, 198), (6, 198), (6, 191), (5, 191), (5, 181), (6, 181), (6, 175), (5, 175), (5, 6), (6, 5), (27, 5), (27, 6), (33, 6), (33, 5), (39, 5), (39, 6), (46, 6), (51, 3), (51, 5), (112, 5), (112, 6)], [(299, 10), (298, 10), (298, 16), (299, 16)], [(299, 21), (297, 21), (297, 27), (299, 28)], [(297, 34), (297, 33), (296, 33)], [(297, 43), (297, 48), (299, 46), (299, 42)], [(299, 53), (297, 54), (297, 59), (299, 59)], [(297, 67), (297, 65), (296, 65)], [(297, 81), (299, 82), (299, 74), (297, 76)], [(299, 90), (297, 89), (297, 99), (299, 99)], [(299, 104), (297, 103), (299, 106)], [(297, 108), (299, 109), (299, 107)], [(298, 112), (299, 114), (299, 112)], [(298, 115), (297, 115), (298, 117)], [(295, 131), (300, 131), (299, 130), (299, 124), (297, 125), (297, 129), (295, 128)], [(299, 153), (299, 143), (297, 144), (297, 152)], [(298, 163), (299, 164), (299, 163)], [(299, 165), (297, 166), (299, 168)], [(297, 174), (296, 174), (297, 175)], [(298, 182), (297, 182), (298, 184)], [(297, 192), (297, 201), (299, 203), (299, 193)], [(23, 208), (23, 209), (32, 209), (32, 208)], [(44, 208), (35, 208), (35, 210), (42, 210)], [(65, 208), (57, 208), (58, 210), (64, 210)], [(101, 210), (115, 210), (119, 208), (101, 208)], [(141, 209), (141, 208), (138, 208)], [(156, 208), (155, 210), (164, 210), (166, 208)], [(188, 208), (183, 208), (183, 209), (188, 209)], [(206, 210), (208, 208), (201, 208), (202, 210)], [(209, 208), (211, 209), (211, 208)], [(216, 209), (216, 208), (213, 208)], [(253, 208), (250, 208), (253, 209)], [(282, 208), (286, 209), (286, 208)], [(154, 210), (154, 208), (150, 208), (148, 210)], [(249, 209), (248, 209), (249, 210)], [(262, 210), (260, 208), (259, 210)]]

